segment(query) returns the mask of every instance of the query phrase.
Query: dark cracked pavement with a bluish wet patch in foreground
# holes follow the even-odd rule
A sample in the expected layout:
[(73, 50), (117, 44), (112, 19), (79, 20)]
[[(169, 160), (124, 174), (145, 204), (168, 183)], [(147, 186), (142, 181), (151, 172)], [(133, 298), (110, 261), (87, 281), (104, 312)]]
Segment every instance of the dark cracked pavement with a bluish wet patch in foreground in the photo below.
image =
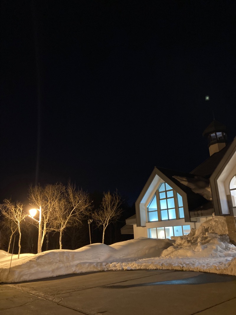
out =
[(0, 286), (0, 315), (231, 315), (236, 276), (174, 270), (91, 272)]

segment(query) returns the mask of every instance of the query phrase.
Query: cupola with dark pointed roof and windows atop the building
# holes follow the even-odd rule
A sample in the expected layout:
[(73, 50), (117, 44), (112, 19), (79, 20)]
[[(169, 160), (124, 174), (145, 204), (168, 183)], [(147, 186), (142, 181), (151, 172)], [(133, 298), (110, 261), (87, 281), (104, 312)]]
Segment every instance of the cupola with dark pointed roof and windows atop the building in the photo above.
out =
[(227, 135), (226, 127), (217, 120), (213, 120), (212, 123), (204, 130), (204, 137), (208, 139), (208, 147), (210, 156), (216, 152), (219, 152), (226, 146)]

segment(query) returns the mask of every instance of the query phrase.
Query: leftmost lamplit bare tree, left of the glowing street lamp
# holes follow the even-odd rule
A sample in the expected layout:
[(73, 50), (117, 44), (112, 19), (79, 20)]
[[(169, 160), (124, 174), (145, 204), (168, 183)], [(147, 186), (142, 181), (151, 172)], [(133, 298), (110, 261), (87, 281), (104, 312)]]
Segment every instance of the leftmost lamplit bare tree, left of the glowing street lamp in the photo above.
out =
[[(17, 226), (17, 230), (19, 232), (19, 241), (18, 241), (18, 258), (20, 257), (20, 240), (21, 240), (21, 229), (20, 225), (22, 221), (25, 220), (25, 217), (27, 214), (23, 210), (23, 204), (20, 202), (12, 203), (11, 200), (5, 199), (3, 204), (0, 205), (0, 209), (2, 210), (3, 217), (6, 218), (9, 221), (12, 221)], [(12, 232), (14, 230), (14, 227), (12, 229)], [(13, 234), (12, 234), (13, 235)], [(11, 237), (12, 237), (11, 235)], [(9, 247), (8, 247), (9, 249)]]

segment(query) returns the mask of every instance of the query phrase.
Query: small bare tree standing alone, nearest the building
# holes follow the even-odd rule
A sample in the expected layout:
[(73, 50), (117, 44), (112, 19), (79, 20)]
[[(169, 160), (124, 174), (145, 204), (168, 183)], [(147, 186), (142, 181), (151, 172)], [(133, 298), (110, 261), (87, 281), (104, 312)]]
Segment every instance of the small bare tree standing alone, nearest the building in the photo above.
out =
[(122, 209), (120, 208), (122, 204), (121, 195), (118, 192), (114, 192), (113, 194), (108, 192), (103, 193), (102, 203), (99, 208), (95, 210), (92, 214), (93, 220), (96, 222), (97, 226), (102, 228), (103, 230), (103, 240), (104, 244), (104, 236), (105, 230), (107, 226), (117, 221), (117, 219), (121, 216)]

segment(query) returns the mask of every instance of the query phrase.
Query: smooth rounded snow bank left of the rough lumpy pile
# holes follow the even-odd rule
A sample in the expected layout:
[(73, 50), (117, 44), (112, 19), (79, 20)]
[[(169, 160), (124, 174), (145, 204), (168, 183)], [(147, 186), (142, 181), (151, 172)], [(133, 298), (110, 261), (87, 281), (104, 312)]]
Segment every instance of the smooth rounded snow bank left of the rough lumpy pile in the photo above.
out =
[[(0, 282), (21, 282), (55, 277), (70, 273), (108, 270), (106, 265), (114, 261), (130, 261), (160, 255), (171, 246), (169, 239), (140, 238), (115, 243), (92, 244), (76, 250), (49, 250), (27, 258), (0, 265)], [(23, 254), (24, 255), (24, 254)]]

